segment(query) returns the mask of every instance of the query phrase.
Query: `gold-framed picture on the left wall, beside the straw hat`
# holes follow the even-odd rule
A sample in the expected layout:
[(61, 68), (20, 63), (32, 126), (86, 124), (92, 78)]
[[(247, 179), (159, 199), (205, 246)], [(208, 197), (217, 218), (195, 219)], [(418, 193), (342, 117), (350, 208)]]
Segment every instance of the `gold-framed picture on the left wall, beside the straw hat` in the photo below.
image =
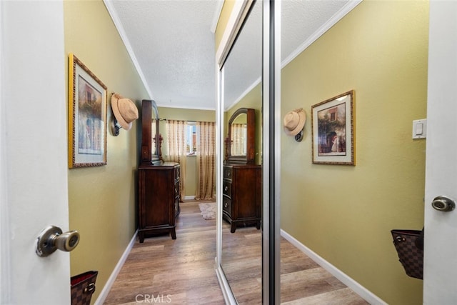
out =
[(69, 168), (106, 165), (107, 88), (69, 54)]

